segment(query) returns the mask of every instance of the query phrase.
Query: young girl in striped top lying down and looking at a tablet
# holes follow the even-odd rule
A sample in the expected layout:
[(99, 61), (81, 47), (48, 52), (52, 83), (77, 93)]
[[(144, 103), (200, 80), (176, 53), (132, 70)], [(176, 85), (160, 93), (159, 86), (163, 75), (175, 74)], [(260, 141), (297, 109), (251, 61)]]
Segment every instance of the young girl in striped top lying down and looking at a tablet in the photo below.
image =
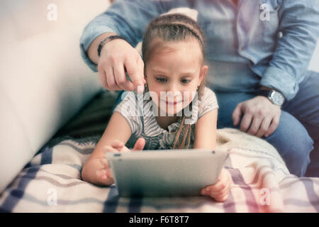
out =
[[(151, 21), (142, 40), (145, 91), (122, 95), (82, 179), (113, 184), (106, 151), (215, 148), (218, 104), (205, 87), (204, 48), (201, 28), (188, 16), (172, 13)], [(218, 182), (201, 194), (225, 201), (230, 184), (223, 169)]]

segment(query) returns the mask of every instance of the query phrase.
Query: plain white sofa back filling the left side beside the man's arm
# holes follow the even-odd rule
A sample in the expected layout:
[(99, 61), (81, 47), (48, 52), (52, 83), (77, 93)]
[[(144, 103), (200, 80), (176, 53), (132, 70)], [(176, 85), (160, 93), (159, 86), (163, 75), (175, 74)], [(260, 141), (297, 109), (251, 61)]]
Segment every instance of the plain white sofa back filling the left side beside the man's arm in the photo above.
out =
[(82, 60), (84, 26), (108, 7), (99, 1), (0, 1), (0, 193), (94, 94), (96, 72)]

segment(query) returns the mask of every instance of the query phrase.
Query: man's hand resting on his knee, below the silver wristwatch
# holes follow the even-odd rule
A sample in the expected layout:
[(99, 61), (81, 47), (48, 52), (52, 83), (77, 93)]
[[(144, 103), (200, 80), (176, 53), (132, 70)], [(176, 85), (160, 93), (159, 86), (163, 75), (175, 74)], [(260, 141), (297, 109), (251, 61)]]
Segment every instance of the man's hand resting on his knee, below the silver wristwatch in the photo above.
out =
[(242, 116), (240, 131), (256, 135), (259, 138), (268, 137), (276, 131), (280, 115), (279, 106), (272, 104), (267, 97), (256, 96), (254, 99), (243, 101), (236, 106), (233, 111), (233, 123), (234, 126), (237, 126)]

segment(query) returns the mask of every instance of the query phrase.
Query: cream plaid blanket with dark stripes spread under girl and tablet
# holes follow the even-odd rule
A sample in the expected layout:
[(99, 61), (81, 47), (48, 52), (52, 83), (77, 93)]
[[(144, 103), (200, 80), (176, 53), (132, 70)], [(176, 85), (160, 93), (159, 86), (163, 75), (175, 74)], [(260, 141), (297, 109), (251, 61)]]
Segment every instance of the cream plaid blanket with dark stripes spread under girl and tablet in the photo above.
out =
[[(101, 98), (102, 97), (102, 98)], [(113, 96), (112, 96), (113, 97)], [(89, 118), (101, 115), (99, 96), (81, 121), (71, 125), (75, 131), (91, 126), (99, 133), (82, 138), (58, 133), (0, 194), (4, 212), (318, 212), (319, 178), (298, 178), (289, 171), (274, 147), (262, 139), (230, 128), (218, 130), (217, 148), (229, 149), (225, 169), (233, 184), (228, 200), (219, 203), (207, 196), (169, 198), (123, 198), (116, 185), (99, 187), (81, 179), (81, 170), (99, 140), (104, 125), (96, 127)], [(113, 100), (114, 101), (114, 100)], [(110, 106), (113, 105), (111, 101)], [(96, 109), (96, 106), (99, 108)], [(108, 106), (108, 107), (110, 107)], [(101, 117), (107, 119), (111, 112)], [(80, 114), (81, 115), (81, 114)], [(103, 115), (103, 114), (102, 114)], [(85, 119), (85, 120), (83, 120)], [(76, 122), (76, 123), (74, 123)], [(82, 122), (82, 123), (80, 123)], [(72, 128), (69, 126), (69, 128)], [(96, 130), (100, 128), (100, 130)], [(91, 130), (93, 132), (94, 130)], [(82, 133), (86, 134), (86, 133)], [(69, 136), (69, 135), (72, 135)]]

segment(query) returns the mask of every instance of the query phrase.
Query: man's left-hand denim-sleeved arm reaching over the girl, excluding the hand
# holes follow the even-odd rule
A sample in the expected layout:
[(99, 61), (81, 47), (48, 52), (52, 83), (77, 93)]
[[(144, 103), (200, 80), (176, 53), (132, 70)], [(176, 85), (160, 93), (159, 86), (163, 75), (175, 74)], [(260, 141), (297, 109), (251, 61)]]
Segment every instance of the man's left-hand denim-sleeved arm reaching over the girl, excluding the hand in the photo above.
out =
[(121, 35), (130, 45), (142, 40), (147, 24), (162, 13), (169, 11), (174, 1), (121, 0), (96, 16), (85, 28), (80, 39), (82, 57), (92, 70), (97, 71), (99, 60), (97, 47), (108, 35)]

